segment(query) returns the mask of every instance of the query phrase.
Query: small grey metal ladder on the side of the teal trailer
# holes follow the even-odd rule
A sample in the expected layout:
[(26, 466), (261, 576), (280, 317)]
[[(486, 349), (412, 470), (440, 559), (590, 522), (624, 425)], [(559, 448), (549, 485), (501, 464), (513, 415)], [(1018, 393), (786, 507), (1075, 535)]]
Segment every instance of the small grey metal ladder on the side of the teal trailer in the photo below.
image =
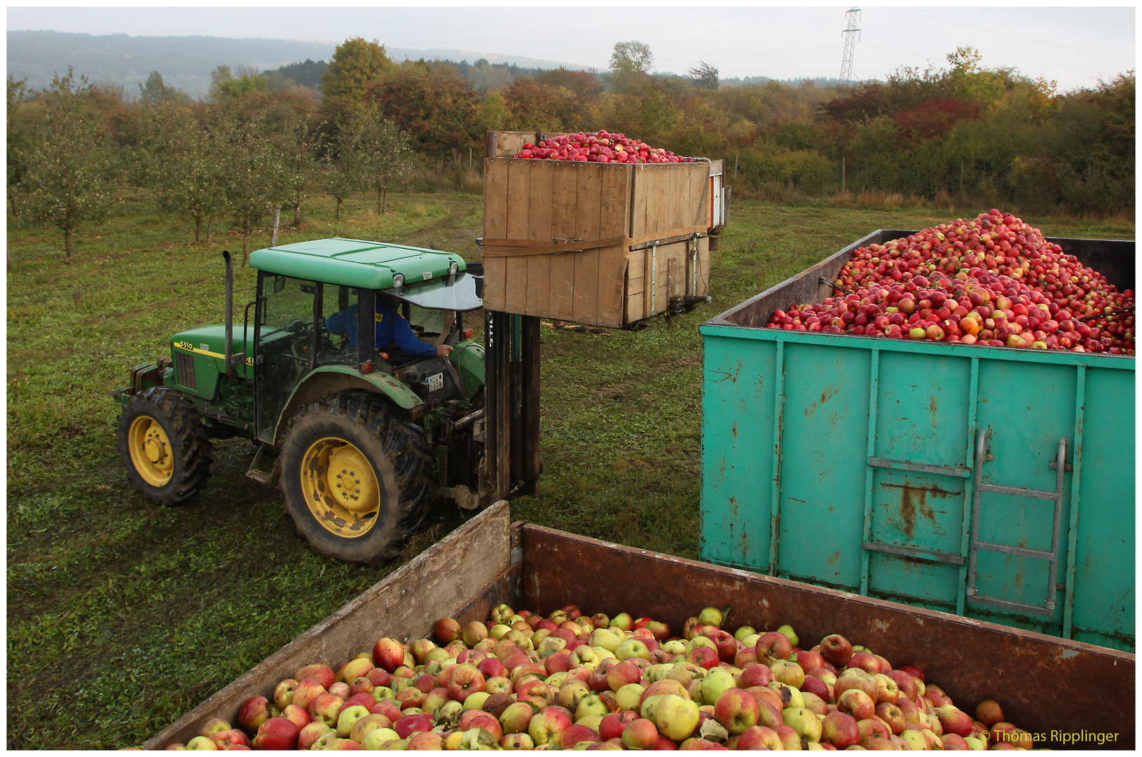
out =
[[(983, 462), (990, 458), (987, 453), (988, 434), (987, 429), (980, 429), (975, 437), (975, 496), (972, 504), (972, 546), (968, 551), (967, 565), (967, 601), (975, 604), (986, 604), (1004, 610), (1020, 610), (1051, 618), (1055, 614), (1055, 593), (1059, 590), (1055, 585), (1055, 572), (1059, 566), (1059, 523), (1062, 518), (1063, 509), (1063, 475), (1067, 472), (1067, 437), (1059, 440), (1059, 453), (1052, 468), (1055, 468), (1055, 490), (1043, 491), (1040, 489), (1023, 489), (1022, 486), (1003, 486), (999, 484), (986, 484), (983, 480)], [(1011, 494), (1013, 497), (1032, 497), (1036, 499), (1054, 500), (1055, 513), (1051, 528), (1051, 549), (1028, 549), (1015, 547), (1014, 545), (999, 545), (991, 541), (980, 541), (980, 494), (982, 492), (995, 492), (997, 494)], [(1018, 557), (1030, 557), (1031, 559), (1047, 561), (1047, 591), (1042, 605), (1027, 602), (1013, 602), (998, 597), (980, 596), (975, 588), (975, 555), (982, 549), (984, 551), (996, 551)]]

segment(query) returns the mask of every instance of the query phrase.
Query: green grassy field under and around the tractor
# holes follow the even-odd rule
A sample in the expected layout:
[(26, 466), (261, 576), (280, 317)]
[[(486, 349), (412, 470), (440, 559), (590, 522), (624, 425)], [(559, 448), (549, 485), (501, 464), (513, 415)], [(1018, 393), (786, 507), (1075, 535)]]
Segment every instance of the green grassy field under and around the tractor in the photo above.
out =
[[(378, 216), (352, 200), (340, 222), (315, 201), (282, 241), (345, 235), (478, 256), (478, 195), (389, 201)], [(544, 477), (513, 517), (697, 557), (698, 325), (876, 228), (958, 215), (974, 211), (737, 201), (710, 305), (638, 332), (545, 329)], [(1134, 236), (1126, 223), (1027, 220), (1049, 235)], [(263, 229), (250, 249), (267, 241)], [(220, 252), (241, 247), (224, 226), (196, 243), (192, 222), (140, 199), (83, 229), (71, 261), (51, 229), (8, 231), (9, 749), (140, 744), (461, 520), (441, 508), (387, 567), (317, 556), (280, 492), (242, 475), (254, 446), (241, 440), (216, 443), (209, 488), (188, 506), (154, 506), (130, 488), (111, 392), (130, 365), (169, 354), (170, 335), (222, 320)], [(240, 307), (254, 282), (238, 272)]]

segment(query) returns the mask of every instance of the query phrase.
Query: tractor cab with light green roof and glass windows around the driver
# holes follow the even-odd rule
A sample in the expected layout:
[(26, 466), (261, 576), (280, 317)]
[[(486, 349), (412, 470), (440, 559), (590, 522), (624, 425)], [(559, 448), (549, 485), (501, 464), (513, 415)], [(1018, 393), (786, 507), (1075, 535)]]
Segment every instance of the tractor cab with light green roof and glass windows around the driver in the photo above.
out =
[[(483, 348), (472, 341), (464, 314), (482, 306), (480, 279), (459, 256), (328, 239), (257, 250), (250, 266), (258, 269), (252, 357), (259, 440), (274, 443), (299, 400), (340, 388), (346, 369), (353, 378), (379, 381), (386, 394), (404, 389), (399, 404), (408, 409), (410, 402), (432, 409), (478, 398)], [(397, 311), (418, 341), (448, 345), (452, 354), (378, 348), (372, 335), (386, 307)], [(297, 396), (303, 384), (313, 386)]]

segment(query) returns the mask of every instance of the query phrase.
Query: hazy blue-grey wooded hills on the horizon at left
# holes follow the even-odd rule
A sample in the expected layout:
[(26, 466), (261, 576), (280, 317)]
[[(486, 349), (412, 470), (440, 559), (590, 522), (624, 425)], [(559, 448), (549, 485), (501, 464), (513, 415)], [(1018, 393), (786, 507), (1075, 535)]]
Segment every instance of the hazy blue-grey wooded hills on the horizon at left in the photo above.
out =
[[(130, 37), (128, 34), (77, 34), (50, 31), (8, 32), (8, 73), (27, 78), (32, 89), (51, 83), (55, 73), (72, 66), (91, 82), (121, 84), (129, 96), (152, 71), (162, 74), (163, 83), (182, 89), (191, 97), (206, 97), (210, 72), (219, 65), (279, 69), (304, 61), (328, 61), (339, 42), (299, 42), (260, 38), (226, 37)], [(471, 53), (465, 50), (385, 48), (394, 61), (425, 58), (467, 61), (485, 59), (528, 69), (581, 69), (573, 64), (537, 61), (522, 56)]]

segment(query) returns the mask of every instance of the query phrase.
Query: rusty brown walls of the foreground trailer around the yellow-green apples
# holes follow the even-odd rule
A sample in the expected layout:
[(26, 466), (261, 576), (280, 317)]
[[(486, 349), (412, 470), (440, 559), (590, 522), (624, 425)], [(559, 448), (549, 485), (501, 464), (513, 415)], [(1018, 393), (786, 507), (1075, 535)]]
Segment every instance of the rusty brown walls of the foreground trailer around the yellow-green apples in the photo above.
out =
[[(488, 618), (507, 602), (541, 613), (632, 612), (681, 630), (707, 605), (733, 625), (791, 623), (803, 639), (844, 634), (896, 665), (916, 663), (962, 706), (997, 699), (1036, 746), (1133, 749), (1134, 655), (1035, 631), (861, 597), (512, 523), (497, 502), (301, 634), (146, 742), (185, 743), (211, 717), (233, 720), (249, 696), (272, 696), (300, 666), (339, 666), (381, 636), (426, 637), (439, 618)], [(1101, 734), (1101, 735), (1099, 735)], [(1097, 739), (1102, 740), (1100, 744)], [(1072, 746), (1075, 746), (1072, 743)]]

